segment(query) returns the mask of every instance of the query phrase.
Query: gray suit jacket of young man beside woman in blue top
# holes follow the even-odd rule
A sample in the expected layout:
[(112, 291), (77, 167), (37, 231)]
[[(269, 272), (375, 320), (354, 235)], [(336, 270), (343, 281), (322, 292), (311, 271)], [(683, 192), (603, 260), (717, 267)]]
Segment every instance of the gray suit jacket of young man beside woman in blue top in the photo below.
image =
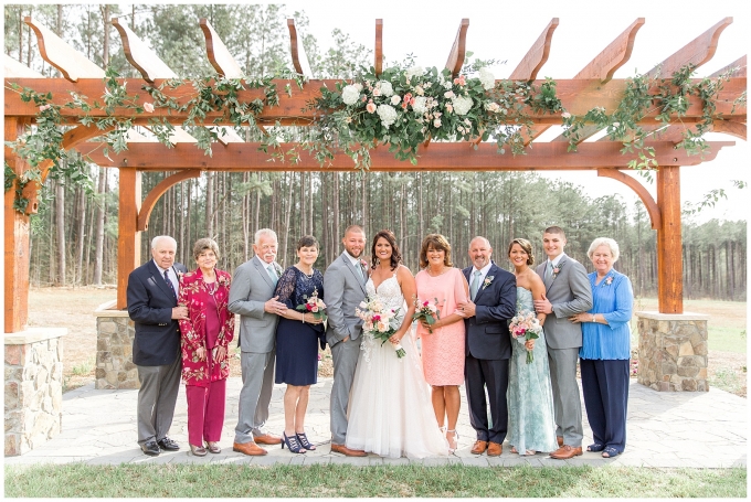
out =
[(573, 349), (582, 346), (581, 324), (569, 321), (574, 313), (586, 312), (592, 308), (590, 278), (582, 264), (565, 254), (558, 263), (560, 271), (556, 277), (544, 280), (548, 260), (537, 266), (537, 275), (542, 278), (546, 297), (553, 306), (553, 313), (544, 320), (544, 337), (551, 349)]

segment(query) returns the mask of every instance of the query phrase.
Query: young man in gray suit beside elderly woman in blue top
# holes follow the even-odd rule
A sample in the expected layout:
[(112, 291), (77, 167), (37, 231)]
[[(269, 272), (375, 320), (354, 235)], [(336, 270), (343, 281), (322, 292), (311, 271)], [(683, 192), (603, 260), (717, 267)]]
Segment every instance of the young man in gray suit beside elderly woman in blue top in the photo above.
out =
[(535, 309), (547, 313), (544, 323), (550, 362), (550, 383), (553, 389), (553, 412), (558, 450), (550, 458), (570, 459), (582, 455), (582, 405), (577, 383), (577, 359), (582, 346), (581, 324), (569, 318), (592, 308), (592, 290), (586, 269), (563, 253), (565, 234), (550, 226), (542, 235), (548, 259), (536, 271), (542, 278), (546, 296), (535, 300)]

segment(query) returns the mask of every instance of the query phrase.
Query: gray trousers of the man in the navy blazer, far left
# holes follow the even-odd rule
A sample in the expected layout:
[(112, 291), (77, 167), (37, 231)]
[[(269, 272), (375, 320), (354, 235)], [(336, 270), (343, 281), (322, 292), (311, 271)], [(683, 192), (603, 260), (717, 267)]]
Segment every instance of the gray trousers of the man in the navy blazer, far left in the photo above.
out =
[(138, 369), (138, 444), (165, 439), (172, 426), (174, 404), (180, 389), (182, 359), (172, 364), (136, 366)]

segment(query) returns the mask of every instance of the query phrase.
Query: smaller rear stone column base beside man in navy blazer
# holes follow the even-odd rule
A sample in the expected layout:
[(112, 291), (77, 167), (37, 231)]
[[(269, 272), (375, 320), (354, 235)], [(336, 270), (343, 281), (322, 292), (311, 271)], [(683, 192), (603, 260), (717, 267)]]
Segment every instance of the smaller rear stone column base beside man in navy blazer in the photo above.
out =
[(136, 329), (127, 310), (116, 310), (116, 300), (102, 303), (96, 317), (95, 388), (140, 388), (133, 363)]

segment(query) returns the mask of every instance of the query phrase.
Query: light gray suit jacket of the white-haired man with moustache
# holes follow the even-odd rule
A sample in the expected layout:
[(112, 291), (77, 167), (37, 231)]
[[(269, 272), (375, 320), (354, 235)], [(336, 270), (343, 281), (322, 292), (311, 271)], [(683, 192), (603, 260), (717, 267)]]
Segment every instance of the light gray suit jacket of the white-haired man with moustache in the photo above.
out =
[[(274, 269), (282, 269), (274, 261)], [(242, 264), (232, 277), (228, 308), (240, 314), (240, 339), (243, 352), (271, 352), (276, 341), (278, 316), (264, 310), (264, 303), (274, 296), (274, 281), (268, 277), (266, 264), (258, 256)]]

